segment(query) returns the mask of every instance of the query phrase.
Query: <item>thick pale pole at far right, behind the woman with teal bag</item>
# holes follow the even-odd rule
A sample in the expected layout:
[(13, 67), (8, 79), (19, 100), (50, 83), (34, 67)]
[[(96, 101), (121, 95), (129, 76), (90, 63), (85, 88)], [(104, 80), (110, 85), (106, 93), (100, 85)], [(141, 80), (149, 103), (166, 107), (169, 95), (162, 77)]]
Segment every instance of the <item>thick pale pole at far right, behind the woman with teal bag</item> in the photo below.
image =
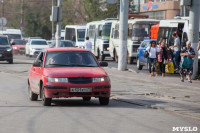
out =
[(190, 15), (189, 15), (189, 40), (192, 43), (192, 48), (195, 50), (195, 58), (193, 64), (193, 75), (194, 79), (196, 74), (198, 74), (198, 51), (197, 46), (199, 43), (199, 0), (192, 0), (192, 5), (190, 6)]

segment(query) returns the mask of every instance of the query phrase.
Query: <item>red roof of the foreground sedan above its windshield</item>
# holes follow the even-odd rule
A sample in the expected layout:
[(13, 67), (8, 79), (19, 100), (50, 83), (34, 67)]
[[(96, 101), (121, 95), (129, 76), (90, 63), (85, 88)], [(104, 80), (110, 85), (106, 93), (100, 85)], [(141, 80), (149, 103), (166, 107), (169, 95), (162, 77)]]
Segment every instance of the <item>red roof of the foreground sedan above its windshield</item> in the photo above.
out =
[(88, 51), (87, 49), (83, 48), (73, 48), (73, 47), (59, 47), (59, 48), (47, 48), (45, 51)]

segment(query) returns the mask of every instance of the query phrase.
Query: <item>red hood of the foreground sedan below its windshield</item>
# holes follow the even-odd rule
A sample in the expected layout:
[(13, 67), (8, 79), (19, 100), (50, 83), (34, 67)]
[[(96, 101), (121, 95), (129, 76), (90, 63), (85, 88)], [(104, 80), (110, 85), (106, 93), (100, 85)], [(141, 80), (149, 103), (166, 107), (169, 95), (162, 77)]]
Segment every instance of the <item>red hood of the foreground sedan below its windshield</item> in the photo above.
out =
[(107, 73), (100, 67), (44, 68), (47, 77), (104, 77)]

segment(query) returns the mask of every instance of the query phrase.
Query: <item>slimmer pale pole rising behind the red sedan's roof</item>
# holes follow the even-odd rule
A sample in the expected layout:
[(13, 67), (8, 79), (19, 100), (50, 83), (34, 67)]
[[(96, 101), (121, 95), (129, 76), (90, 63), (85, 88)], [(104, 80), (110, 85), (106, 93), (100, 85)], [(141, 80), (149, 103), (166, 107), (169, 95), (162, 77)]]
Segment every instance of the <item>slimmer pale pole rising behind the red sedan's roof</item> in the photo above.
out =
[(58, 6), (58, 22), (56, 25), (56, 47), (60, 44), (61, 24), (62, 24), (62, 0), (57, 1)]

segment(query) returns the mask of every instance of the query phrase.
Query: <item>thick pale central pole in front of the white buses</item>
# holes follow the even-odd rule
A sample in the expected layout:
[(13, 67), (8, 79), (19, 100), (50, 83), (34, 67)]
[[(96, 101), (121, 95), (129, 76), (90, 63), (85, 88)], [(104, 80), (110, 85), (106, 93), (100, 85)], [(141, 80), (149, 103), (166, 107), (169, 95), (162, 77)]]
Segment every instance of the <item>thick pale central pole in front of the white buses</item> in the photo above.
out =
[(128, 8), (129, 0), (120, 0), (118, 70), (121, 71), (127, 69)]

